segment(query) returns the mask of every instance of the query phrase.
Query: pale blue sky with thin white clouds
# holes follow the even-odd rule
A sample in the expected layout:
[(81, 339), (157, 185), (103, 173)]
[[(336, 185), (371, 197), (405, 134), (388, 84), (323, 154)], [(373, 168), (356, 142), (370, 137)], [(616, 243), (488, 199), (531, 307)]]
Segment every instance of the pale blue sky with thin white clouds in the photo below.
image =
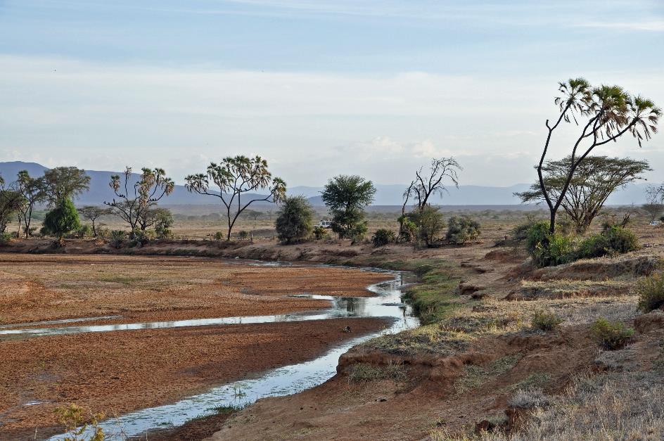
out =
[[(181, 183), (261, 155), (320, 186), (453, 156), (460, 184), (510, 186), (535, 179), (559, 81), (664, 106), (663, 46), (661, 0), (0, 0), (0, 161)], [(664, 134), (597, 153), (664, 180)]]

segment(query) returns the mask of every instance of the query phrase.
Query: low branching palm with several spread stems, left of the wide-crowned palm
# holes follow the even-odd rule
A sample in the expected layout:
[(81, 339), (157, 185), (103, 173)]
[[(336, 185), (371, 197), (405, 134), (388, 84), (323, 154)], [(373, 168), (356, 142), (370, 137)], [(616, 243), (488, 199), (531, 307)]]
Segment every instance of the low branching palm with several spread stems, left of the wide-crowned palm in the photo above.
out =
[(172, 193), (175, 184), (160, 168), (141, 169), (139, 180), (132, 185), (132, 167), (127, 167), (123, 178), (118, 174), (110, 177), (108, 186), (113, 188), (118, 199), (113, 198), (112, 202), (104, 201), (104, 204), (111, 207), (114, 215), (129, 224), (134, 235), (154, 224), (151, 210), (161, 198)]

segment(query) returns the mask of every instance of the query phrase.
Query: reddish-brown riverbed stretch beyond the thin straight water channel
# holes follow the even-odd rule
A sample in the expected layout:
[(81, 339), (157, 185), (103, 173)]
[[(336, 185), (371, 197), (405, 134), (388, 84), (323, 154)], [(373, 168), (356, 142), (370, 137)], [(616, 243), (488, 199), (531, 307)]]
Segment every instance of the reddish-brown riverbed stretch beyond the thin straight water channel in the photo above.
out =
[(108, 315), (122, 318), (103, 323), (282, 314), (329, 307), (326, 300), (288, 295), (372, 295), (366, 286), (386, 279), (388, 274), (343, 268), (251, 267), (187, 257), (1, 253), (0, 324)]

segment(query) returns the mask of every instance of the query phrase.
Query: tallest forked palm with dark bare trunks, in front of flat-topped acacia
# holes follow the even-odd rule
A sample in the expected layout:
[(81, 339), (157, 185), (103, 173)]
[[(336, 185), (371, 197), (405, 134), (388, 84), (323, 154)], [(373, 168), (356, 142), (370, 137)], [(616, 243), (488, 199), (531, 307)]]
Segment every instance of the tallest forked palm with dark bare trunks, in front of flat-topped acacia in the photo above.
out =
[[(561, 96), (554, 103), (560, 109), (556, 122), (546, 122), (548, 130), (544, 142), (540, 163), (537, 165), (537, 176), (540, 180), (542, 196), (549, 207), (549, 233), (556, 231), (556, 212), (563, 203), (577, 167), (585, 160), (594, 148), (616, 141), (626, 133), (632, 134), (639, 142), (649, 140), (657, 132), (657, 123), (661, 115), (660, 108), (653, 101), (641, 96), (630, 96), (622, 87), (600, 86), (591, 87), (584, 78), (570, 79), (559, 83)], [(582, 122), (582, 131), (572, 147), (570, 167), (563, 180), (558, 196), (551, 192), (544, 179), (544, 161), (547, 158), (549, 144), (554, 132), (561, 122)], [(578, 154), (580, 153), (580, 154)]]

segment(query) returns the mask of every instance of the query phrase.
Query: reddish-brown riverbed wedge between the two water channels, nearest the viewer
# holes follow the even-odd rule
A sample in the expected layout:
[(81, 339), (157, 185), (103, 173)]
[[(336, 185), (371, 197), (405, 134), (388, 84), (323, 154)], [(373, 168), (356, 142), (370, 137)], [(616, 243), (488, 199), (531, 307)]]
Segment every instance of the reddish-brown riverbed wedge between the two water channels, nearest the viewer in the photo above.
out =
[[(0, 343), (0, 439), (57, 431), (53, 409), (107, 415), (173, 402), (212, 385), (317, 356), (382, 319), (85, 333)], [(345, 326), (352, 333), (343, 332)], [(158, 349), (158, 350), (156, 350)], [(43, 401), (26, 407), (31, 401)]]

